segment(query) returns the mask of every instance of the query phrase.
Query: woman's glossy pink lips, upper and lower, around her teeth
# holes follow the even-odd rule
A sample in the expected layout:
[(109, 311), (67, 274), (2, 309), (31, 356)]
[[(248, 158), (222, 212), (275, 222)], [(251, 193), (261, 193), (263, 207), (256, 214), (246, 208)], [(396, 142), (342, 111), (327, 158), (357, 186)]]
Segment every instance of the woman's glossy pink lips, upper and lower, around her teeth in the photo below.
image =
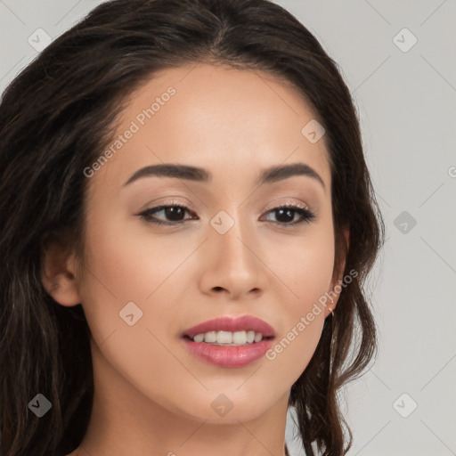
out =
[[(264, 339), (245, 346), (215, 346), (191, 340), (197, 334), (209, 331), (255, 331), (260, 332)], [(244, 367), (260, 359), (273, 345), (273, 337), (273, 327), (251, 315), (243, 315), (237, 318), (216, 318), (184, 330), (182, 334), (183, 344), (191, 354), (198, 356), (205, 362), (227, 368)]]

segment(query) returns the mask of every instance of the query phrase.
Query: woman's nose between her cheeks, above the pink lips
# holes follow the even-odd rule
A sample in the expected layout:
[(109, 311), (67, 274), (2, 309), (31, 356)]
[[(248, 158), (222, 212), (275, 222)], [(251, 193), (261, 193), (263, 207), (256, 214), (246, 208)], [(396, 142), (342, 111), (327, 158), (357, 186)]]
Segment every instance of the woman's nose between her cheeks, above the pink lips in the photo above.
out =
[(207, 261), (200, 288), (207, 294), (226, 295), (230, 300), (261, 296), (267, 284), (265, 259), (254, 232), (242, 230), (239, 217), (224, 234), (210, 227), (205, 243)]

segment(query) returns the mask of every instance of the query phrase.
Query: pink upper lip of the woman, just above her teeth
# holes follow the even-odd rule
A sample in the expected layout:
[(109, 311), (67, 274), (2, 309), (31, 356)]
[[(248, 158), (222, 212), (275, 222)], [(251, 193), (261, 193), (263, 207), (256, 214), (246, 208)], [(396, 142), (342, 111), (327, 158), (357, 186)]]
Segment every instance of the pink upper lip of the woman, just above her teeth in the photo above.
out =
[(183, 336), (194, 338), (197, 334), (209, 331), (255, 331), (260, 332), (264, 338), (272, 338), (274, 329), (271, 325), (252, 315), (240, 317), (219, 317), (208, 322), (202, 322), (183, 331)]

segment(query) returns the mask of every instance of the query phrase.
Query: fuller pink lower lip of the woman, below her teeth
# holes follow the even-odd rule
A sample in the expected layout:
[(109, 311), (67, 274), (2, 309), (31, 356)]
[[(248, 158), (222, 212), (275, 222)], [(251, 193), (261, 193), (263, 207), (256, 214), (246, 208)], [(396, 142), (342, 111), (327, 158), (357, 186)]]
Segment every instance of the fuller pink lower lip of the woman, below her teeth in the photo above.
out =
[(214, 346), (205, 342), (194, 342), (188, 338), (183, 338), (183, 343), (192, 354), (203, 361), (219, 367), (236, 368), (259, 360), (271, 348), (273, 339), (264, 339), (247, 346)]

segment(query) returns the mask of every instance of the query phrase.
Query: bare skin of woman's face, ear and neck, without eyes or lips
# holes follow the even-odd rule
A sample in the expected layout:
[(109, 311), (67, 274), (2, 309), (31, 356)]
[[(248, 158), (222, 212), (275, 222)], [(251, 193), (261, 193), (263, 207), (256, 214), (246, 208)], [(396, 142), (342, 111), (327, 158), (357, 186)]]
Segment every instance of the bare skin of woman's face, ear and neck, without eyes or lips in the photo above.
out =
[[(175, 94), (142, 125), (138, 115), (169, 86)], [(134, 93), (118, 134), (132, 121), (138, 131), (87, 177), (83, 265), (58, 245), (45, 257), (45, 288), (61, 305), (82, 303), (93, 335), (94, 408), (70, 456), (284, 454), (289, 390), (330, 310), (273, 360), (242, 368), (196, 358), (181, 335), (216, 317), (249, 314), (273, 326), (278, 342), (341, 279), (332, 276), (324, 136), (312, 143), (301, 134), (313, 118), (283, 82), (206, 64), (164, 70)], [(212, 178), (149, 175), (124, 185), (138, 169), (162, 163), (204, 167)], [(291, 163), (312, 167), (324, 187), (308, 175), (256, 183), (264, 168)], [(291, 212), (283, 222), (273, 208), (289, 203), (314, 219), (291, 226), (302, 219)], [(155, 225), (139, 215), (160, 204), (188, 208), (182, 219), (189, 221)], [(210, 224), (222, 210), (233, 221), (224, 234)], [(154, 217), (177, 220), (163, 210)], [(129, 302), (142, 311), (132, 326), (119, 317)], [(211, 406), (221, 394), (232, 404), (224, 416)]]

